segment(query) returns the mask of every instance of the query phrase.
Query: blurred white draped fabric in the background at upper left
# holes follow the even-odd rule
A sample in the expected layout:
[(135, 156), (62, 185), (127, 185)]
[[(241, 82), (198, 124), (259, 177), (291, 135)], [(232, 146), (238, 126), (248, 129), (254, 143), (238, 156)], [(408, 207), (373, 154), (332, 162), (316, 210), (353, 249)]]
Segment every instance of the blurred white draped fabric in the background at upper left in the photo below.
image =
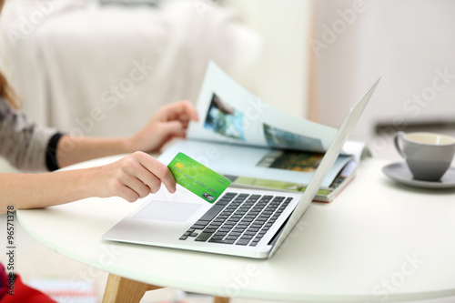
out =
[(1, 22), (25, 112), (78, 136), (132, 135), (160, 106), (196, 102), (210, 60), (241, 73), (261, 47), (209, 2), (11, 0)]

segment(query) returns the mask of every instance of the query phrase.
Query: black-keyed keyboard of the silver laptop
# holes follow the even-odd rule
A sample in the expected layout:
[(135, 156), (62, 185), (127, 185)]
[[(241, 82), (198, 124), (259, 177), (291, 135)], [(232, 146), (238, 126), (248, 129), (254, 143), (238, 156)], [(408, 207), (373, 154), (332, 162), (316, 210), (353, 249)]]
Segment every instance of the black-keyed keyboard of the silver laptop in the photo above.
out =
[(292, 197), (228, 192), (179, 239), (255, 247), (290, 201)]

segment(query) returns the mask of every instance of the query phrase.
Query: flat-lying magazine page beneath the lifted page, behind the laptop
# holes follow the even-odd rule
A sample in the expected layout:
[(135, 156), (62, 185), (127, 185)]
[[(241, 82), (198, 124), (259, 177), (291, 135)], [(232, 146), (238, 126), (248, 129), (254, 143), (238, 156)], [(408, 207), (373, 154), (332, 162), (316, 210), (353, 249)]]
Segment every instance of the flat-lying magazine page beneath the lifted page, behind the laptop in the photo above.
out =
[[(264, 178), (303, 185), (308, 185), (324, 156), (320, 153), (189, 139), (167, 148), (158, 160), (167, 165), (179, 152), (224, 176)], [(350, 160), (350, 156), (339, 156), (321, 187), (329, 188)]]

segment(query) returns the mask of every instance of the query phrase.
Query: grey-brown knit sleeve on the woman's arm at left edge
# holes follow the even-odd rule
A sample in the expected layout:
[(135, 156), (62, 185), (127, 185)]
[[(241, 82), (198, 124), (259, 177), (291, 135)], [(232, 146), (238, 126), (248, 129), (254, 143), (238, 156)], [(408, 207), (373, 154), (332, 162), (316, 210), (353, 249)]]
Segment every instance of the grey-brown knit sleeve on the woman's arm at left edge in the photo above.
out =
[(55, 129), (37, 126), (0, 98), (0, 156), (14, 167), (26, 171), (47, 170), (46, 149), (55, 134)]

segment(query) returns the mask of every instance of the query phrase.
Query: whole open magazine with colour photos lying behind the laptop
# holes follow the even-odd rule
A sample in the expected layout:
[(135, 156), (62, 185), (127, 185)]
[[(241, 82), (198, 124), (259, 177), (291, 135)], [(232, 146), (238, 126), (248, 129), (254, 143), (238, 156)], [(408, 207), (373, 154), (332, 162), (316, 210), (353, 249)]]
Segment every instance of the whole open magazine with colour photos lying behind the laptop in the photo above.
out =
[[(160, 157), (178, 152), (229, 178), (231, 186), (304, 191), (337, 129), (292, 116), (239, 86), (210, 63), (197, 99), (199, 121), (187, 139)], [(315, 200), (330, 201), (349, 183), (366, 151), (348, 142), (324, 179)]]

